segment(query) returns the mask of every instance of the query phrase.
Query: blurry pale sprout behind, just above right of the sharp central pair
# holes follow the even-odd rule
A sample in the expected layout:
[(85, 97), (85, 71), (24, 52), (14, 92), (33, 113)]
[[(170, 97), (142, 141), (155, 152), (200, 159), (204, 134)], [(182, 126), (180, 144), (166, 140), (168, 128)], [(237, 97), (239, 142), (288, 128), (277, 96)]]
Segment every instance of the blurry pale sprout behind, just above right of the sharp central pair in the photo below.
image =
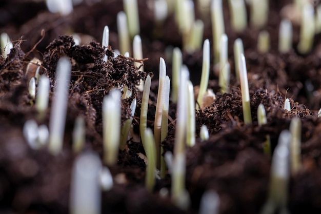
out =
[(180, 68), (183, 64), (182, 51), (179, 48), (173, 49), (173, 60), (172, 60), (172, 102), (176, 103), (178, 98), (178, 87), (179, 87), (179, 75)]

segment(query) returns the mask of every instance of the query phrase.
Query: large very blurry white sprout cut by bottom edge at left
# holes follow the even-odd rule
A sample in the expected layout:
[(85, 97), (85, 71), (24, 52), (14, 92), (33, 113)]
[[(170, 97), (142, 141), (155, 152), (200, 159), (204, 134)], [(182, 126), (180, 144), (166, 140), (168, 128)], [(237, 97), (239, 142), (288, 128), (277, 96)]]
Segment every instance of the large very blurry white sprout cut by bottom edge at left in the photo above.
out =
[(101, 170), (101, 160), (95, 153), (78, 155), (72, 169), (70, 213), (101, 213), (101, 186), (99, 184)]

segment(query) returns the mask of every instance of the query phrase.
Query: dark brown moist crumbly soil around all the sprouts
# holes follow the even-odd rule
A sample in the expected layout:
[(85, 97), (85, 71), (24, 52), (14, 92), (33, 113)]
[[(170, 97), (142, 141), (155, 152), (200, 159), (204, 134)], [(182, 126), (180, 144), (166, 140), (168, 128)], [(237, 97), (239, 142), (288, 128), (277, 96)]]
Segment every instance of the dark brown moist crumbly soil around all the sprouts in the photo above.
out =
[[(0, 211), (2, 213), (68, 213), (72, 164), (77, 154), (72, 152), (72, 130), (78, 115), (86, 121), (85, 151), (95, 151), (102, 158), (102, 101), (110, 89), (126, 85), (133, 95), (122, 100), (122, 123), (129, 118), (130, 103), (135, 97), (137, 108), (133, 120), (133, 136), (139, 135), (139, 115), (142, 93), (135, 85), (147, 74), (153, 76), (148, 127), (153, 128), (157, 100), (159, 57), (165, 57), (171, 75), (171, 57), (166, 48), (182, 47), (180, 36), (171, 15), (163, 25), (154, 25), (153, 13), (145, 1), (139, 2), (141, 36), (144, 57), (132, 59), (119, 55), (116, 14), (123, 6), (119, 1), (93, 3), (87, 1), (75, 7), (72, 14), (62, 17), (47, 11), (40, 1), (3, 1), (0, 3), (0, 28), (14, 40), (14, 48), (5, 60), (0, 56)], [(196, 112), (196, 145), (187, 148), (186, 188), (191, 205), (180, 210), (170, 196), (159, 195), (160, 189), (171, 189), (170, 174), (156, 180), (152, 193), (145, 185), (146, 164), (142, 143), (132, 138), (124, 151), (119, 151), (118, 162), (110, 167), (114, 186), (103, 191), (103, 213), (197, 213), (205, 190), (214, 189), (220, 198), (220, 213), (259, 213), (267, 200), (271, 158), (263, 153), (266, 135), (270, 135), (272, 151), (279, 133), (289, 128), (291, 119), (302, 121), (302, 168), (290, 178), (288, 208), (290, 213), (320, 213), (321, 211), (321, 126), (317, 111), (321, 107), (321, 36), (315, 36), (313, 50), (299, 54), (295, 47), (299, 27), (294, 26), (293, 47), (287, 54), (277, 51), (280, 10), (291, 1), (270, 1), (268, 25), (271, 49), (266, 54), (256, 50), (258, 29), (248, 27), (235, 33), (229, 23), (229, 9), (224, 2), (226, 33), (229, 36), (231, 64), (230, 92), (219, 92), (217, 76), (211, 69), (209, 88), (216, 100)], [(90, 6), (88, 4), (91, 4)], [(196, 4), (195, 4), (196, 5)], [(26, 10), (28, 8), (28, 10)], [(30, 9), (29, 9), (30, 8)], [(24, 14), (19, 16), (18, 14)], [(196, 17), (201, 17), (196, 13)], [(205, 14), (206, 15), (206, 14)], [(212, 38), (210, 19), (205, 19), (204, 38)], [(110, 45), (106, 50), (101, 41), (105, 25), (110, 28)], [(44, 29), (44, 31), (42, 31)], [(72, 32), (82, 33), (89, 42), (75, 45)], [(90, 36), (89, 36), (90, 35)], [(252, 125), (243, 121), (242, 94), (235, 78), (233, 42), (240, 37), (245, 47), (251, 97)], [(210, 40), (212, 44), (212, 40)], [(105, 54), (108, 57), (104, 62)], [(50, 108), (43, 120), (37, 119), (34, 100), (28, 93), (29, 73), (26, 66), (33, 56), (43, 62), (41, 74), (51, 81), (50, 101), (54, 92), (55, 68), (62, 56), (72, 63), (64, 147), (56, 156), (46, 148), (31, 149), (23, 137), (24, 123), (35, 119), (38, 125), (48, 126)], [(202, 70), (202, 51), (183, 53), (194, 86), (199, 84)], [(145, 72), (138, 71), (134, 62), (144, 64)], [(211, 65), (211, 68), (214, 66)], [(291, 111), (284, 110), (285, 99)], [(263, 103), (267, 124), (258, 126), (257, 107)], [(175, 133), (176, 104), (170, 102), (169, 133), (162, 143), (164, 151), (172, 151)], [(200, 126), (209, 129), (209, 140), (199, 138)]]

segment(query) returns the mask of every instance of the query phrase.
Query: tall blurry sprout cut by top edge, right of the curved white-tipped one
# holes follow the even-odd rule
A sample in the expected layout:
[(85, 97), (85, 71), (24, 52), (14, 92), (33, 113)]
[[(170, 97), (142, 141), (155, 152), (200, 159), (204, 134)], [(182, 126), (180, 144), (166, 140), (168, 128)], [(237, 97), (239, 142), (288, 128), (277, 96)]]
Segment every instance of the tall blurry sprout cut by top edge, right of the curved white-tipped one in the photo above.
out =
[(214, 65), (218, 63), (220, 37), (225, 33), (222, 0), (213, 0), (211, 6)]

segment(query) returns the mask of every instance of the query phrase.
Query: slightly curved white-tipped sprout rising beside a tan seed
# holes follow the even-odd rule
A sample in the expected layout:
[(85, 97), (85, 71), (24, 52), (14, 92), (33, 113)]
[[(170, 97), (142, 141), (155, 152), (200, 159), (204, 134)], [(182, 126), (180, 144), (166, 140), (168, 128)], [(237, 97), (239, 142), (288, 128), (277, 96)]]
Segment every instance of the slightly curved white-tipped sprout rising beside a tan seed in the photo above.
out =
[(196, 109), (203, 108), (203, 99), (208, 87), (208, 80), (210, 76), (210, 41), (207, 39), (203, 44), (203, 64), (202, 76), (200, 77), (199, 91), (197, 95)]

